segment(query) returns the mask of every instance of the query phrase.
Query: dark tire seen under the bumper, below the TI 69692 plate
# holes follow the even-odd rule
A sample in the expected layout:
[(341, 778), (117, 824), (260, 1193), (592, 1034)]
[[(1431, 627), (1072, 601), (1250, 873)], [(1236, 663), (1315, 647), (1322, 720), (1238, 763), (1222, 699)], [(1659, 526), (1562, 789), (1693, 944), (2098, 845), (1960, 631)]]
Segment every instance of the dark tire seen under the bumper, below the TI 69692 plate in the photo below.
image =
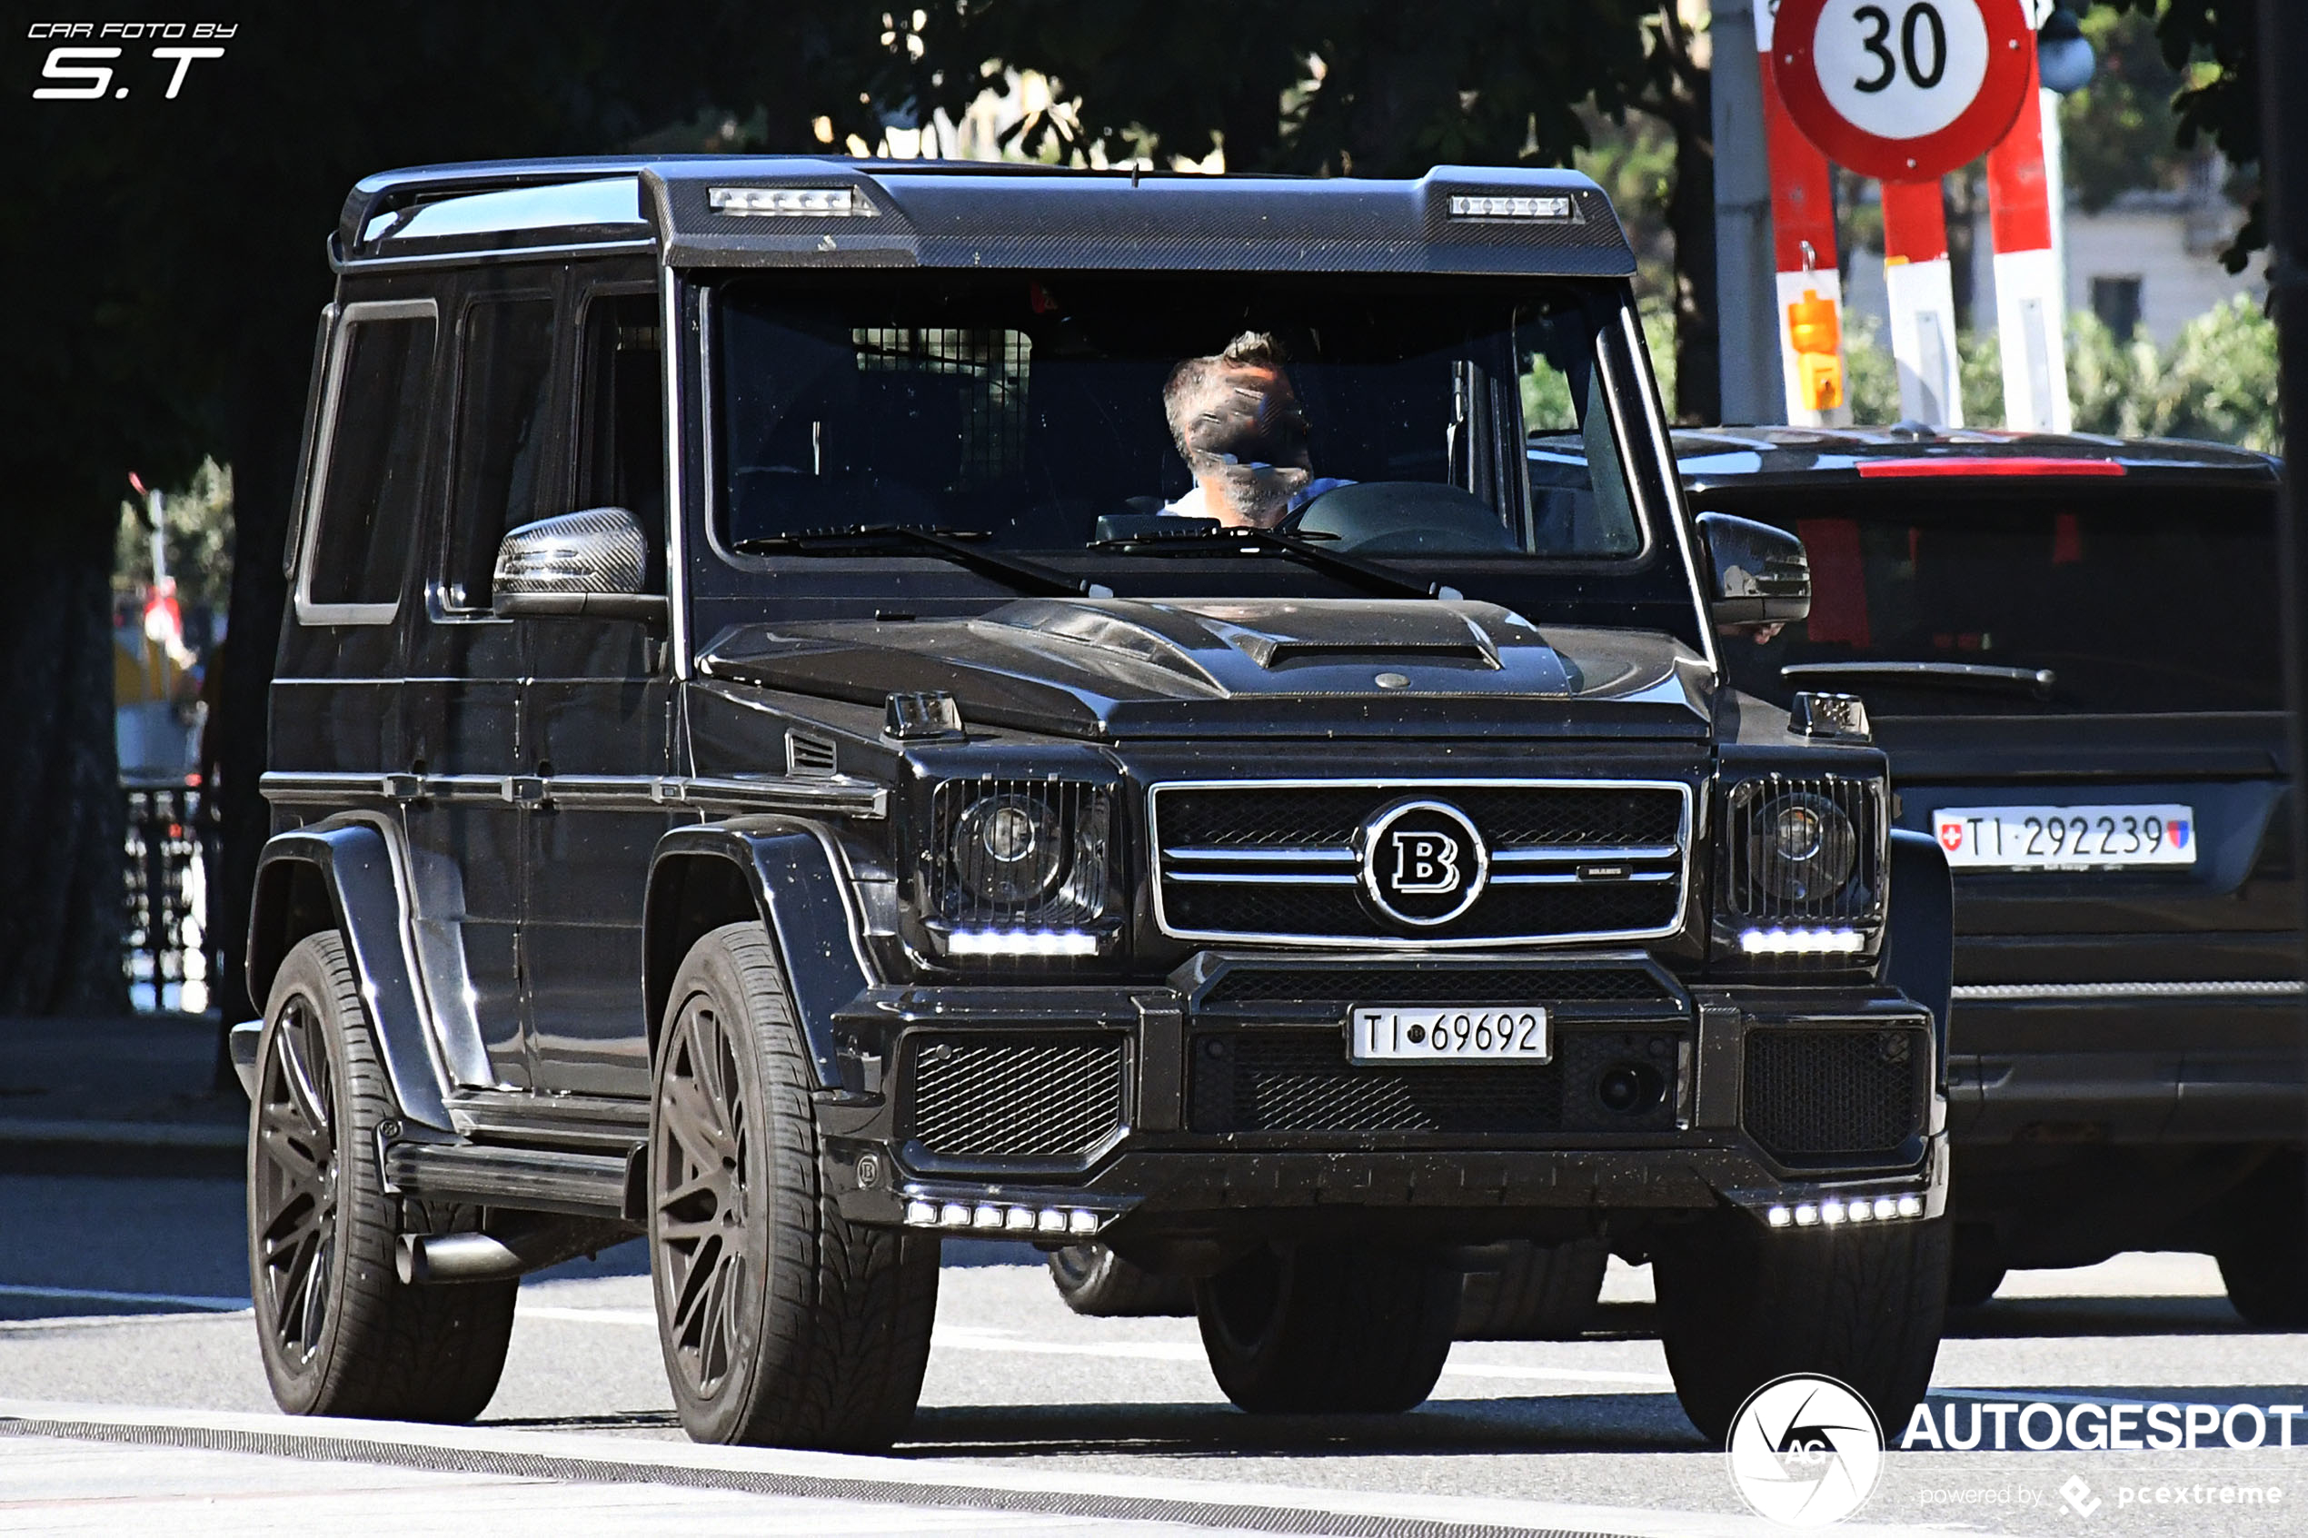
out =
[(1401, 1413), (1433, 1393), (1459, 1273), (1417, 1250), (1265, 1247), (1193, 1284), (1202, 1351), (1258, 1416)]

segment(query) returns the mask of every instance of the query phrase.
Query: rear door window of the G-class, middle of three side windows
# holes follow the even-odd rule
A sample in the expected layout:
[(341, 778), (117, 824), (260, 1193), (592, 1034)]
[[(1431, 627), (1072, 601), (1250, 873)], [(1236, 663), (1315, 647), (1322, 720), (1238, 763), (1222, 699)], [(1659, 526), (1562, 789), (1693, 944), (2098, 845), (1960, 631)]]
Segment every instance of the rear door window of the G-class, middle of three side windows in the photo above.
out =
[(441, 572), (441, 600), (450, 611), (487, 611), (505, 530), (552, 512), (538, 505), (552, 367), (552, 295), (492, 297), (464, 311)]

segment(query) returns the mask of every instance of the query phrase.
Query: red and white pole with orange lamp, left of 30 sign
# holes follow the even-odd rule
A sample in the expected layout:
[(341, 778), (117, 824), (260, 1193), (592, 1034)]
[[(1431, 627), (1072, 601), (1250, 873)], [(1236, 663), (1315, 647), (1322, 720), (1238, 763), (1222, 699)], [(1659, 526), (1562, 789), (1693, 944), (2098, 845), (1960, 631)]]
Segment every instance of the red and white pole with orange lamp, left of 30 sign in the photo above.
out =
[(1786, 115), (1773, 76), (1770, 12), (1756, 9), (1763, 65), (1763, 150), (1770, 159), (1770, 231), (1779, 272), (1779, 378), (1791, 427), (1846, 427), (1844, 288), (1835, 267), (1835, 184), (1828, 157)]

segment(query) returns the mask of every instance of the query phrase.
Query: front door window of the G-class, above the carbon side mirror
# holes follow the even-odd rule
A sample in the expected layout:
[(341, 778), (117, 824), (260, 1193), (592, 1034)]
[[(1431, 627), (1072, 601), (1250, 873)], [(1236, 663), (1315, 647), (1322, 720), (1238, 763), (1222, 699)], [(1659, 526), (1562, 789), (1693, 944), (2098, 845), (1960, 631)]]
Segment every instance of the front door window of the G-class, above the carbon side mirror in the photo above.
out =
[(595, 295), (579, 357), (577, 507), (625, 507), (665, 558), (665, 362), (658, 297)]

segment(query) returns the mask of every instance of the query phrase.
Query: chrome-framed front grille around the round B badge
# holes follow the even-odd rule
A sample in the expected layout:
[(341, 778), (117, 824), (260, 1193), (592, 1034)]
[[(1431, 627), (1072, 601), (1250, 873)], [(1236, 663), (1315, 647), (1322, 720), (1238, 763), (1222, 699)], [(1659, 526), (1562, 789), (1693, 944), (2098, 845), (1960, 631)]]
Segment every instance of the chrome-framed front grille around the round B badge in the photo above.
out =
[[(1486, 872), (1463, 913), (1412, 925), (1371, 899), (1366, 830), (1442, 802)], [(1147, 793), (1156, 922), (1191, 941), (1452, 948), (1673, 934), (1692, 791), (1671, 779), (1156, 784)]]

